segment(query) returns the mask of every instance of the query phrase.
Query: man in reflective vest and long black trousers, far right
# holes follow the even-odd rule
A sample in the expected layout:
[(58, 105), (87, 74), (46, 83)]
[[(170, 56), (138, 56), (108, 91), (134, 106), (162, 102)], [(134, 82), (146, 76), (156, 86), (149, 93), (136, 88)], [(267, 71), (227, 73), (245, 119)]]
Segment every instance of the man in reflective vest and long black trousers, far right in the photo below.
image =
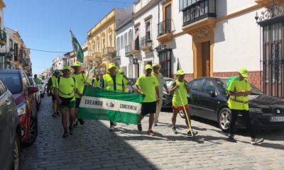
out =
[(263, 142), (263, 138), (256, 138), (253, 128), (251, 127), (248, 95), (251, 94), (252, 89), (246, 77), (249, 77), (248, 70), (246, 68), (239, 69), (239, 79), (233, 79), (228, 87), (230, 95), (228, 106), (231, 110), (228, 140), (229, 142), (236, 142), (233, 132), (238, 115), (241, 114), (245, 120), (246, 129), (249, 130), (251, 134), (251, 144), (255, 145)]

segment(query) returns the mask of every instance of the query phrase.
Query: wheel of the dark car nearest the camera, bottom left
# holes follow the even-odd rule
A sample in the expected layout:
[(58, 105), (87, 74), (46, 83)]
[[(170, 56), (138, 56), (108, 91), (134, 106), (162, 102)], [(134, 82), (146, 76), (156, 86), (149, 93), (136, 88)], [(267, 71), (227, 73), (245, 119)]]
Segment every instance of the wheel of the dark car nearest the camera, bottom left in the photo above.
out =
[(16, 134), (15, 140), (13, 142), (13, 164), (11, 170), (12, 169), (21, 169), (21, 140), (18, 134)]

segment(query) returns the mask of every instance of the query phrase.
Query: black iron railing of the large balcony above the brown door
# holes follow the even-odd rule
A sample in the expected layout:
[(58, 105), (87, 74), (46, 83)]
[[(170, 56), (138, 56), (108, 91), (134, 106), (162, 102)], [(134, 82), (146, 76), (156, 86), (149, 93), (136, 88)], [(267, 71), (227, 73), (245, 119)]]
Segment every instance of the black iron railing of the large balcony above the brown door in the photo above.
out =
[(186, 8), (182, 9), (182, 12), (183, 26), (200, 21), (203, 18), (216, 17), (216, 0), (200, 0), (194, 3), (192, 1)]

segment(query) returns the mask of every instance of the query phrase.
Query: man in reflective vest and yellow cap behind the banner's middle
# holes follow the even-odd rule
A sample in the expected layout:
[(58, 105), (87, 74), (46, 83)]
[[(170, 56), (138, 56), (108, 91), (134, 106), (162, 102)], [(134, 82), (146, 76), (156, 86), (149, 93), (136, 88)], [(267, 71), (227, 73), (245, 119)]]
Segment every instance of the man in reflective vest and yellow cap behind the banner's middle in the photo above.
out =
[[(124, 78), (121, 74), (116, 72), (116, 65), (111, 62), (109, 63), (109, 70), (107, 74), (104, 74), (101, 80), (101, 88), (110, 91), (125, 91), (124, 89)], [(116, 123), (110, 121), (110, 131), (114, 131), (114, 126)]]

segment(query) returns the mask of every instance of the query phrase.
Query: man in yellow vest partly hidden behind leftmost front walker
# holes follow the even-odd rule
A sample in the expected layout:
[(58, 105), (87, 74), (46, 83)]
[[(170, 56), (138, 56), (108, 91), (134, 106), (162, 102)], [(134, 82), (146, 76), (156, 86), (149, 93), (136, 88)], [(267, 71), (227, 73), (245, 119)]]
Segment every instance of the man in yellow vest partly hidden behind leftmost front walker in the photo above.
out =
[[(53, 118), (56, 117), (56, 115), (59, 116), (58, 113), (58, 103), (56, 101), (56, 98), (54, 96), (54, 86), (56, 86), (56, 82), (58, 81), (58, 77), (60, 76), (60, 71), (58, 69), (55, 70), (53, 77), (50, 77), (48, 80), (48, 97), (51, 96), (53, 100)], [(56, 87), (57, 88), (57, 87)]]

